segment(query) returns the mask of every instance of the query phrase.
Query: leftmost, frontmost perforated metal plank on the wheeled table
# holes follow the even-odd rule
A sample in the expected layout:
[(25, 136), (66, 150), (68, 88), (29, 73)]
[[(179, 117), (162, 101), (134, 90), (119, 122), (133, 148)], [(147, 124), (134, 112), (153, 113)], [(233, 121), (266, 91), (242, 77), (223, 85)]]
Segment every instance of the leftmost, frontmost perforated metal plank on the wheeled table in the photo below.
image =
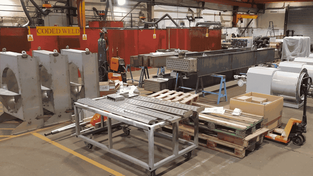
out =
[(136, 111), (117, 107), (117, 106), (103, 103), (103, 102), (93, 100), (90, 98), (82, 98), (82, 99), (77, 100), (77, 102), (94, 107), (94, 108), (101, 109), (103, 111), (115, 113), (117, 115), (121, 115), (126, 118), (130, 118), (130, 119), (142, 122), (142, 123), (150, 124), (150, 123), (156, 122), (156, 118), (148, 116), (146, 114), (141, 114)]

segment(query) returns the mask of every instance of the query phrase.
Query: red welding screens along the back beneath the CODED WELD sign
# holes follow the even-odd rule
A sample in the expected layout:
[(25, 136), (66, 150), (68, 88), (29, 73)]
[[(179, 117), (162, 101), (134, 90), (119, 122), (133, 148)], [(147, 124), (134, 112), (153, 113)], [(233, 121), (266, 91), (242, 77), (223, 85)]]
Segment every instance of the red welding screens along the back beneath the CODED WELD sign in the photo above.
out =
[[(188, 51), (221, 49), (221, 28), (208, 27), (141, 29), (141, 28), (106, 28), (109, 41), (108, 58), (119, 56), (130, 64), (130, 56), (155, 52), (157, 49), (179, 48)], [(208, 29), (208, 30), (207, 30)], [(101, 28), (85, 28), (87, 40), (83, 40), (84, 28), (79, 36), (37, 36), (36, 28), (30, 27), (33, 41), (28, 42), (28, 27), (0, 27), (0, 49), (21, 53), (23, 50), (32, 55), (32, 50), (60, 52), (67, 45), (71, 49), (98, 53), (98, 39)], [(208, 37), (206, 37), (208, 33)], [(156, 34), (156, 38), (153, 38)]]

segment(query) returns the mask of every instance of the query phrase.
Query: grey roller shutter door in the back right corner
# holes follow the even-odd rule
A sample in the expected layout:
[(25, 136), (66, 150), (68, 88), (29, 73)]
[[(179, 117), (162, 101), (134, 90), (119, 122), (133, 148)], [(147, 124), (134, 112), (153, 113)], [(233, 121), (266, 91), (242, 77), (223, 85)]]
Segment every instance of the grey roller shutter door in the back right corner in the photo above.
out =
[(287, 30), (295, 30), (294, 35), (310, 37), (313, 43), (313, 6), (290, 8)]

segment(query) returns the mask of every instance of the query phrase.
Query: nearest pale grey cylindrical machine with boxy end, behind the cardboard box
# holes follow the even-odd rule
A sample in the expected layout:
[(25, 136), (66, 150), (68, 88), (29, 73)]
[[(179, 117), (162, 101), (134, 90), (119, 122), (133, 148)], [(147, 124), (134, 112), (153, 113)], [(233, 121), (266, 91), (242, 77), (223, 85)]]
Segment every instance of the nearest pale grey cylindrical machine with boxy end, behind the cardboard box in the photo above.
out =
[[(313, 76), (313, 65), (284, 61), (279, 63), (278, 68), (254, 67), (248, 70), (246, 76), (235, 75), (235, 78), (242, 78), (238, 85), (247, 84), (247, 92), (282, 96), (284, 106), (300, 108), (304, 104), (304, 95), (300, 93), (300, 80), (305, 77), (304, 75)], [(263, 84), (266, 85), (261, 86)], [(312, 86), (308, 88), (307, 94), (312, 97)]]

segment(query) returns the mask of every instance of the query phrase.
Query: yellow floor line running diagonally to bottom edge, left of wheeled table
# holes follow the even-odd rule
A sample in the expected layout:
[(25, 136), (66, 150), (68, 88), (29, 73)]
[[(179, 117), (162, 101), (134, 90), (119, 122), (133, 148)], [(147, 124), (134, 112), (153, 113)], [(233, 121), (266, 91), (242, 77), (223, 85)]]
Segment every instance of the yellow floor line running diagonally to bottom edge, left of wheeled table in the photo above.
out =
[(33, 134), (34, 136), (38, 137), (38, 138), (41, 138), (42, 140), (45, 140), (45, 141), (51, 143), (52, 145), (54, 145), (54, 146), (56, 146), (56, 147), (61, 148), (62, 150), (66, 151), (66, 152), (69, 152), (69, 153), (71, 153), (71, 154), (77, 156), (78, 158), (81, 158), (81, 159), (87, 161), (88, 163), (91, 163), (91, 164), (97, 166), (98, 168), (101, 168), (101, 169), (103, 169), (103, 170), (109, 172), (109, 173), (112, 173), (112, 174), (114, 174), (114, 175), (116, 175), (116, 176), (125, 176), (125, 175), (123, 175), (123, 174), (121, 174), (121, 173), (116, 172), (115, 170), (113, 170), (113, 169), (111, 169), (111, 168), (108, 168), (108, 167), (106, 167), (106, 166), (104, 166), (104, 165), (102, 165), (102, 164), (100, 164), (100, 163), (98, 163), (98, 162), (96, 162), (96, 161), (90, 159), (90, 158), (85, 157), (84, 155), (81, 155), (80, 153), (77, 153), (77, 152), (75, 152), (75, 151), (73, 151), (73, 150), (71, 150), (71, 149), (69, 149), (69, 148), (67, 148), (67, 147), (64, 147), (63, 145), (61, 145), (61, 144), (59, 144), (59, 143), (57, 143), (57, 142), (54, 142), (54, 141), (50, 140), (49, 138), (46, 138), (46, 137), (44, 137), (44, 136), (41, 135), (41, 134), (38, 134), (38, 133), (32, 133), (32, 134)]

